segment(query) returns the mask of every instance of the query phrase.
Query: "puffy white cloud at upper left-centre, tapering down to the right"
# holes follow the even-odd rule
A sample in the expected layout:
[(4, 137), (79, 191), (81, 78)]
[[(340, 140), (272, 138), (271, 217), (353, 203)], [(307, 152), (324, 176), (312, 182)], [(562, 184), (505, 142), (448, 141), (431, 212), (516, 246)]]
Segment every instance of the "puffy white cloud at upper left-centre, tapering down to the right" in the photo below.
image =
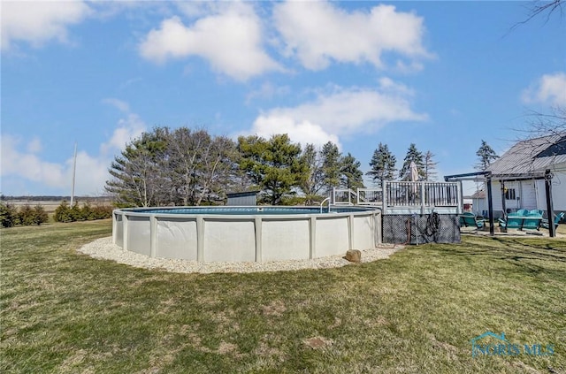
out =
[(146, 35), (140, 53), (156, 63), (170, 58), (203, 57), (235, 80), (282, 70), (262, 50), (261, 20), (251, 4), (230, 3), (186, 27), (179, 17), (165, 19)]

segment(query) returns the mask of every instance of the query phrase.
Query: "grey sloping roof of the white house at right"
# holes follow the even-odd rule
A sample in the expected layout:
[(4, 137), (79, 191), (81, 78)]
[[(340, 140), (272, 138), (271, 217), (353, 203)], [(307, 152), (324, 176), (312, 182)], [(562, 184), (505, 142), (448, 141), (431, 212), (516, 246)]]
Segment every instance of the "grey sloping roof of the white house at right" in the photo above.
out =
[(519, 141), (486, 171), (493, 176), (535, 176), (557, 164), (566, 164), (566, 132)]

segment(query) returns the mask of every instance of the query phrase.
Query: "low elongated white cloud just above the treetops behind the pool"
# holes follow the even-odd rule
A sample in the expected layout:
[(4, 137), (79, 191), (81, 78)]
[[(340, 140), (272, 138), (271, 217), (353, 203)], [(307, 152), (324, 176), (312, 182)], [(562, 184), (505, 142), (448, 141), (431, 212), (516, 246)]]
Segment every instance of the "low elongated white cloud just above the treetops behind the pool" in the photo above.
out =
[(288, 134), (303, 144), (338, 144), (342, 135), (371, 133), (396, 121), (426, 120), (426, 114), (410, 108), (411, 95), (410, 88), (387, 78), (380, 80), (377, 89), (333, 88), (310, 103), (262, 113), (249, 133)]

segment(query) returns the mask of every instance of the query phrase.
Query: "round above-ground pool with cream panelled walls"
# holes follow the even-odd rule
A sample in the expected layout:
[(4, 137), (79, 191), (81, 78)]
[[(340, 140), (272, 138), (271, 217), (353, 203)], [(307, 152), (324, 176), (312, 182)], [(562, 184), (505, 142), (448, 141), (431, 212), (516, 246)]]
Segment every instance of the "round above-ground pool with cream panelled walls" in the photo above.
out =
[(198, 262), (302, 260), (381, 242), (380, 210), (369, 207), (134, 208), (112, 217), (119, 247)]

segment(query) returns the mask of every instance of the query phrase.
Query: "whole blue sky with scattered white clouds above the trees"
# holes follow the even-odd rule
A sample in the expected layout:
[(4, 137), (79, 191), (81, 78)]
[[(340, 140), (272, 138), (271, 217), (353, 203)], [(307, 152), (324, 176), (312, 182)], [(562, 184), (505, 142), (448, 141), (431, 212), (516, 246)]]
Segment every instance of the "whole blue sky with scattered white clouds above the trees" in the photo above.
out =
[[(566, 21), (530, 2), (2, 2), (4, 195), (103, 195), (153, 126), (409, 144), (441, 175), (566, 106)], [(370, 183), (368, 183), (369, 185)]]

